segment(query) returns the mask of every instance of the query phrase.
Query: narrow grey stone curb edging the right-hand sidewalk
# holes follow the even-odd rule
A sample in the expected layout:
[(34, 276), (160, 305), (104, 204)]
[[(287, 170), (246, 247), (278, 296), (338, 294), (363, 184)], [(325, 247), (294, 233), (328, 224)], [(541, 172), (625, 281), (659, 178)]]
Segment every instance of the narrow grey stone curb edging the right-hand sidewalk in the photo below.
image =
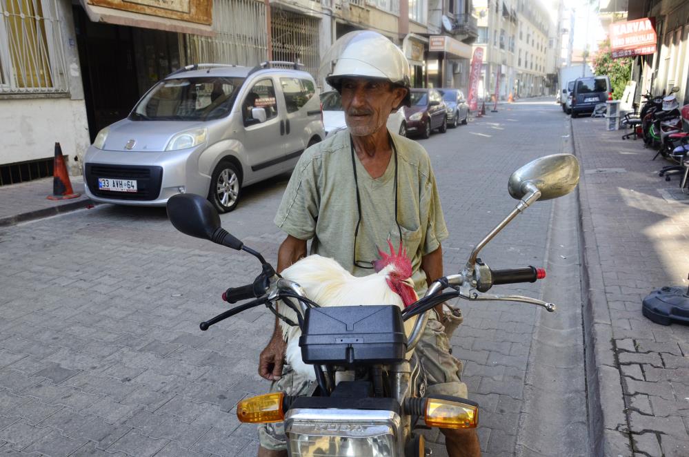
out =
[[(572, 154), (579, 157), (571, 117), (569, 124), (572, 139), (570, 148)], [(595, 456), (631, 456), (632, 441), (628, 433), (629, 424), (615, 340), (612, 337), (610, 309), (605, 295), (595, 231), (590, 213), (585, 211), (588, 208), (586, 189), (583, 189), (583, 194), (580, 181), (577, 186), (577, 202), (590, 451)]]

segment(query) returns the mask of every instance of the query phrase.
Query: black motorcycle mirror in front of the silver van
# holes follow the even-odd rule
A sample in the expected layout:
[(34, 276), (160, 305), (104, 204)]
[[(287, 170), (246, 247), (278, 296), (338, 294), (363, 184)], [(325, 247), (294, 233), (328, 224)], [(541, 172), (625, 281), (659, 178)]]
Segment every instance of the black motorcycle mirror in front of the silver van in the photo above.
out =
[(220, 226), (220, 216), (208, 200), (193, 193), (180, 193), (168, 200), (168, 218), (174, 228), (186, 235), (210, 240), (232, 249), (243, 243)]

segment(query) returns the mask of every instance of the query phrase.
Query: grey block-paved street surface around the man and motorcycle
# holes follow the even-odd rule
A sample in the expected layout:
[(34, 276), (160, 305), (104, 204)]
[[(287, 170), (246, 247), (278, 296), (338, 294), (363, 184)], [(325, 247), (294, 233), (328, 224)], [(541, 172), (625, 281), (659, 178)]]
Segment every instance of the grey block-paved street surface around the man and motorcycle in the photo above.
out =
[[(510, 173), (559, 152), (563, 119), (552, 101), (526, 101), (421, 140), (451, 232), (443, 244), (447, 273), (514, 208)], [(287, 179), (248, 188), (239, 208), (221, 218), (269, 260), (283, 239), (272, 217)], [(532, 206), (484, 249), (483, 260), (494, 268), (543, 264), (552, 209), (552, 202)], [(198, 330), (225, 308), (227, 286), (259, 272), (253, 257), (177, 233), (163, 209), (110, 205), (0, 228), (0, 246), (1, 451), (255, 454), (255, 428), (237, 422), (235, 405), (268, 389), (257, 359), (272, 317), (258, 309)], [(539, 296), (541, 289), (495, 293)], [(569, 301), (558, 304), (579, 307)], [(511, 456), (530, 412), (532, 333), (537, 320), (548, 326), (550, 314), (528, 304), (462, 306), (465, 323), (452, 344), (481, 405), (481, 447), (486, 456)]]

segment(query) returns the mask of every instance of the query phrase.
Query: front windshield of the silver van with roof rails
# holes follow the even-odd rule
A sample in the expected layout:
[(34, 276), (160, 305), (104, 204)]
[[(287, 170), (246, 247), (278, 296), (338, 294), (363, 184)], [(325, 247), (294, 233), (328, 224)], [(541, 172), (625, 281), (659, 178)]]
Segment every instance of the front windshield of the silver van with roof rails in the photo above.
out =
[(198, 121), (230, 113), (244, 78), (199, 77), (165, 79), (156, 84), (132, 111), (132, 121)]

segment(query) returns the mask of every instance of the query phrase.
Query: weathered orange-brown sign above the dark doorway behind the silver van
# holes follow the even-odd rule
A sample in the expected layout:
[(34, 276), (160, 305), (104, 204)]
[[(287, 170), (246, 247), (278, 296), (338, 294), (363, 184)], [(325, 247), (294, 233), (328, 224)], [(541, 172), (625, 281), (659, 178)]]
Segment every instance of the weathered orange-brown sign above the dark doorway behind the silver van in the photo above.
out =
[(86, 0), (89, 5), (149, 16), (210, 25), (213, 2), (208, 0)]

